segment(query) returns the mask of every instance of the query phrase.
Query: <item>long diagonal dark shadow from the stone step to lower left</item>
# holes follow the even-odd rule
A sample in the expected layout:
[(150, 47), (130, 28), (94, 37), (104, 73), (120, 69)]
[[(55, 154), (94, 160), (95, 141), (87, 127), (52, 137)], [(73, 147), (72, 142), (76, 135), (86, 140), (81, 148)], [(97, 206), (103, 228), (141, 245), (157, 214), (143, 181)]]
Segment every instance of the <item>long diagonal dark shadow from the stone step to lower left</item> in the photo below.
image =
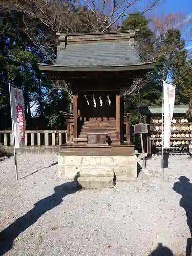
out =
[(0, 232), (0, 256), (4, 255), (13, 247), (13, 241), (24, 232), (28, 227), (33, 225), (45, 212), (55, 208), (63, 202), (66, 195), (73, 194), (80, 190), (77, 183), (67, 182), (54, 188), (55, 193), (35, 203), (33, 209), (25, 215), (18, 218), (11, 225)]

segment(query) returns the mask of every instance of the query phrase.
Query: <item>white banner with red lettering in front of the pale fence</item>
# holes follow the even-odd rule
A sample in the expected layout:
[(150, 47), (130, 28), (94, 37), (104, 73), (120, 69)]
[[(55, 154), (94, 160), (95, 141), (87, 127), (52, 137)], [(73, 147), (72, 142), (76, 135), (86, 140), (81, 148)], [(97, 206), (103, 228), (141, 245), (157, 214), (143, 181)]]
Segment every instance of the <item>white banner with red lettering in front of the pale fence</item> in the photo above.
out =
[(22, 90), (12, 86), (9, 88), (15, 148), (20, 148), (25, 145), (24, 97)]

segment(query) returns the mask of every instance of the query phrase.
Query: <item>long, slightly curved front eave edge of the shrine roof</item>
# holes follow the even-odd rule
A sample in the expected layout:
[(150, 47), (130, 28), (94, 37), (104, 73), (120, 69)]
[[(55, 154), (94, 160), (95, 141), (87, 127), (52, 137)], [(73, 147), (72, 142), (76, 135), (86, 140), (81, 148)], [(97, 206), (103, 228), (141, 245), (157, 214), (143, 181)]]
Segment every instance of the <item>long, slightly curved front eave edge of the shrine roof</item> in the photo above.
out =
[(39, 64), (39, 70), (45, 73), (55, 72), (110, 72), (110, 71), (137, 71), (137, 70), (152, 70), (154, 69), (155, 62), (144, 62), (135, 65), (119, 65), (119, 66), (60, 66)]

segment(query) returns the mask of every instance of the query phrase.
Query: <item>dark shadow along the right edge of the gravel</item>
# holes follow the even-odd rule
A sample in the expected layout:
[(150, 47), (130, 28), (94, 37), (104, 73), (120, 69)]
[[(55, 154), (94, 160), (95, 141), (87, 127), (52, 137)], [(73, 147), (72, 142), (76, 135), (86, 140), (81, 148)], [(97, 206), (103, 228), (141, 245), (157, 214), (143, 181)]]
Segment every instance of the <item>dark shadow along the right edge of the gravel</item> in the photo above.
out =
[[(182, 196), (179, 205), (186, 211), (187, 225), (192, 236), (192, 183), (189, 181), (185, 176), (179, 177), (179, 181), (174, 183), (173, 190)], [(186, 256), (191, 256), (191, 246), (191, 238), (188, 238)]]

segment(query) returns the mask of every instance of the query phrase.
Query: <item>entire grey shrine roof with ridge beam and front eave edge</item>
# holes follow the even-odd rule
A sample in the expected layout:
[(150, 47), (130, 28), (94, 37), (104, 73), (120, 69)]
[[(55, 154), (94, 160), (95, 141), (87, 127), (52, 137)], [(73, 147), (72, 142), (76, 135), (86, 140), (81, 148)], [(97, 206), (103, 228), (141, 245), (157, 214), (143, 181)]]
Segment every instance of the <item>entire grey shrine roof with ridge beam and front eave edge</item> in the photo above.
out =
[[(39, 65), (40, 70), (70, 71), (75, 68), (88, 71), (89, 68), (108, 68), (146, 65), (153, 68), (154, 62), (143, 62), (135, 46), (135, 32), (106, 32), (90, 34), (59, 34), (60, 45), (57, 47), (57, 59), (53, 65)], [(87, 69), (86, 69), (87, 68)], [(138, 69), (138, 68), (136, 68)], [(58, 69), (57, 69), (58, 70)], [(91, 71), (91, 70), (90, 70)]]

